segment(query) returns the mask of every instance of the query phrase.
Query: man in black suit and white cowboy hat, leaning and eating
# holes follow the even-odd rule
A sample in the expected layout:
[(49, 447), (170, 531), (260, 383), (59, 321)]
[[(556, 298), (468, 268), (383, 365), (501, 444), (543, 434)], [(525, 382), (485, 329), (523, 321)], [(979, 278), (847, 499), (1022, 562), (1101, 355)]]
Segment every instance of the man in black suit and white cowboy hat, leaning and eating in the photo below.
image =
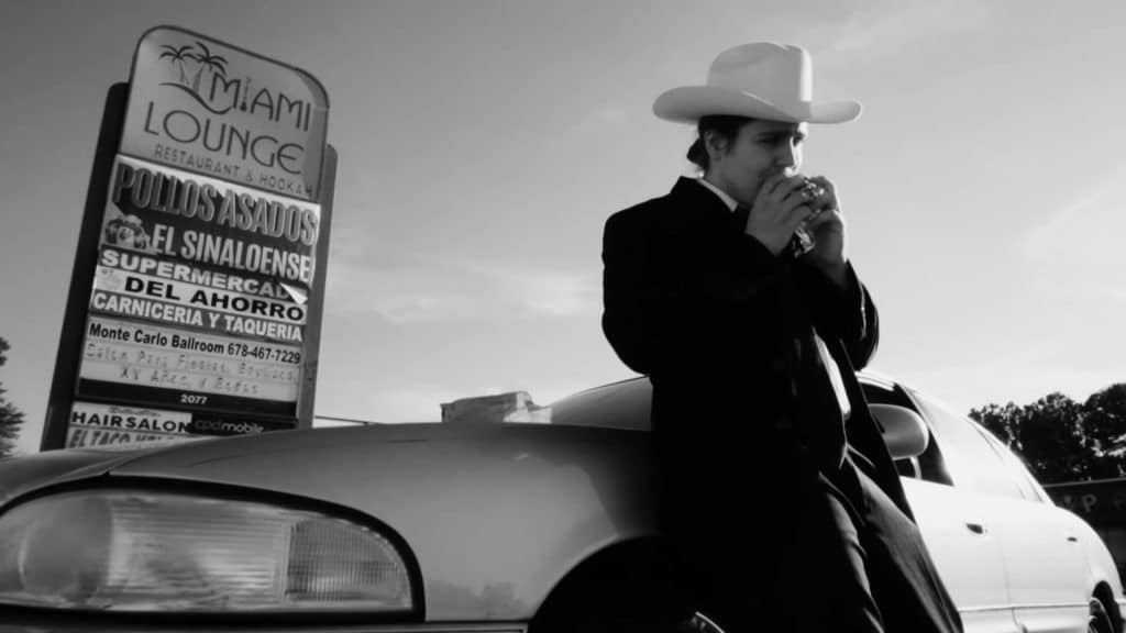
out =
[(798, 171), (808, 124), (860, 105), (811, 86), (804, 50), (752, 43), (656, 99), (697, 125), (703, 176), (607, 221), (604, 331), (653, 383), (686, 608), (727, 633), (960, 631), (856, 381), (877, 314), (837, 188)]

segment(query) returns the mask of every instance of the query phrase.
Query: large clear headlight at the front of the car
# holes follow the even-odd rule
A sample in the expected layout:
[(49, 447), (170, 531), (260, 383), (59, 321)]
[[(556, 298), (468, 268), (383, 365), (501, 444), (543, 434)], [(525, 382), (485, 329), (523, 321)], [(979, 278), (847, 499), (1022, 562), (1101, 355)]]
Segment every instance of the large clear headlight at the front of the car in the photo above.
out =
[(367, 526), (144, 490), (64, 492), (0, 516), (0, 603), (202, 613), (413, 607), (403, 556)]

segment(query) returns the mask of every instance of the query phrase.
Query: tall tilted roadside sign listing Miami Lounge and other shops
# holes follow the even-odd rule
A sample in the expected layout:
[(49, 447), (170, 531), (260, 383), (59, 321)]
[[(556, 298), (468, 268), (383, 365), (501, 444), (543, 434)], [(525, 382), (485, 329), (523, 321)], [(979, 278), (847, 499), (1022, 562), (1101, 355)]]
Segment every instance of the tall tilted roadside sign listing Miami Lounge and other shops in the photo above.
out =
[(42, 448), (311, 426), (336, 173), (323, 88), (157, 27), (116, 92)]

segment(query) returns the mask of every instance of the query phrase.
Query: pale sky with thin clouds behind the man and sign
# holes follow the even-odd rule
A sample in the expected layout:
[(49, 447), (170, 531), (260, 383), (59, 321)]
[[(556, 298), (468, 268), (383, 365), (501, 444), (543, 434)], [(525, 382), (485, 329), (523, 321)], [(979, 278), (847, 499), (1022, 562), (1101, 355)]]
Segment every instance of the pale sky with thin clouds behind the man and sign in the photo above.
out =
[(176, 25), (298, 66), (339, 153), (315, 410), (430, 420), (633, 376), (601, 230), (689, 173), (655, 118), (720, 51), (804, 46), (806, 173), (881, 312), (870, 367), (962, 411), (1126, 382), (1126, 2), (0, 0), (0, 385), (38, 449), (106, 90)]

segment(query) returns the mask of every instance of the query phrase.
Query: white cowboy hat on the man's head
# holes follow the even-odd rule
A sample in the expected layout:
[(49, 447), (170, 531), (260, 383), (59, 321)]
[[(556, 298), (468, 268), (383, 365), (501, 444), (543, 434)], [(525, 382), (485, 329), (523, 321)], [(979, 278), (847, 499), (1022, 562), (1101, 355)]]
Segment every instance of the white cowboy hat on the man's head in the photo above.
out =
[(813, 101), (813, 62), (805, 48), (752, 42), (720, 53), (706, 84), (663, 92), (653, 101), (653, 114), (678, 123), (707, 115), (844, 123), (860, 116), (860, 102)]

